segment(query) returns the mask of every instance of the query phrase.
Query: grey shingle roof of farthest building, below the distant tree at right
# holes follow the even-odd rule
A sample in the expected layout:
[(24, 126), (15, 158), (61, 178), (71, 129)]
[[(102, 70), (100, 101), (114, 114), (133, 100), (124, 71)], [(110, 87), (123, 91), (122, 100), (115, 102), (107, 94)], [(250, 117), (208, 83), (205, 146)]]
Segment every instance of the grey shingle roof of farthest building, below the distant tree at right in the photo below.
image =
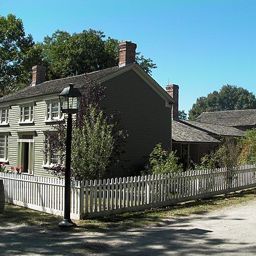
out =
[(213, 123), (224, 126), (255, 125), (256, 109), (203, 112), (195, 120), (198, 122)]

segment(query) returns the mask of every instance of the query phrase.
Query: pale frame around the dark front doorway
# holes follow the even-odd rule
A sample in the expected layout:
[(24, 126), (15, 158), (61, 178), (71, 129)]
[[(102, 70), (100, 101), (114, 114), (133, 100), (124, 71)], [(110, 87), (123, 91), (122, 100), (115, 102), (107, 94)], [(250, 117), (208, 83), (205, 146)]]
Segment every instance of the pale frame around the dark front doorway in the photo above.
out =
[[(32, 139), (23, 139), (23, 135), (31, 135)], [(23, 142), (29, 143), (29, 163), (28, 163), (28, 173), (22, 173), (27, 175), (34, 174), (34, 151), (35, 151), (35, 132), (18, 132), (17, 138), (17, 167), (20, 167), (23, 162), (22, 146)]]

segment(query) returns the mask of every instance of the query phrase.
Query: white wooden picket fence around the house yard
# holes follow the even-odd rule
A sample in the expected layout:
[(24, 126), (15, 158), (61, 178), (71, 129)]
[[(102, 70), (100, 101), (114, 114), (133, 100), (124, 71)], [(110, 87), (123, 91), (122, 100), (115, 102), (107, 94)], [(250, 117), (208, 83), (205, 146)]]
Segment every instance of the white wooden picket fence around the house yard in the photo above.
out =
[[(63, 179), (0, 173), (6, 202), (62, 215)], [(167, 206), (256, 186), (256, 165), (71, 182), (71, 218), (107, 216)]]

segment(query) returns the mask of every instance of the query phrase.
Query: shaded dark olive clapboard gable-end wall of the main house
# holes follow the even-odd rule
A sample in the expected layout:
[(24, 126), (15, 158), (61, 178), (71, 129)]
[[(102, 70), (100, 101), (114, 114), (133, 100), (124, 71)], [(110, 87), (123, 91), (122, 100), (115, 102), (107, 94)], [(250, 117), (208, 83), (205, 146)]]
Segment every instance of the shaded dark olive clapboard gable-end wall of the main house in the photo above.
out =
[(107, 111), (120, 112), (121, 124), (129, 137), (125, 145), (124, 168), (114, 168), (115, 176), (133, 175), (147, 161), (157, 143), (171, 148), (171, 108), (133, 70), (103, 82)]

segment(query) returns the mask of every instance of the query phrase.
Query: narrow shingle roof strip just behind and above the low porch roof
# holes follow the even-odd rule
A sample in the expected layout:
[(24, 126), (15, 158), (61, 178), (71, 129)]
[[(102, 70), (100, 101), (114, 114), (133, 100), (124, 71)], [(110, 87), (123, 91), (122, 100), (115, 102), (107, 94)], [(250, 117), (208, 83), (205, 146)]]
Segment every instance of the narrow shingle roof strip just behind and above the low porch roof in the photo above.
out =
[(231, 126), (217, 125), (211, 123), (203, 123), (190, 120), (181, 120), (181, 122), (200, 129), (203, 132), (214, 134), (214, 135), (223, 135), (223, 136), (244, 136), (244, 132), (238, 130)]

